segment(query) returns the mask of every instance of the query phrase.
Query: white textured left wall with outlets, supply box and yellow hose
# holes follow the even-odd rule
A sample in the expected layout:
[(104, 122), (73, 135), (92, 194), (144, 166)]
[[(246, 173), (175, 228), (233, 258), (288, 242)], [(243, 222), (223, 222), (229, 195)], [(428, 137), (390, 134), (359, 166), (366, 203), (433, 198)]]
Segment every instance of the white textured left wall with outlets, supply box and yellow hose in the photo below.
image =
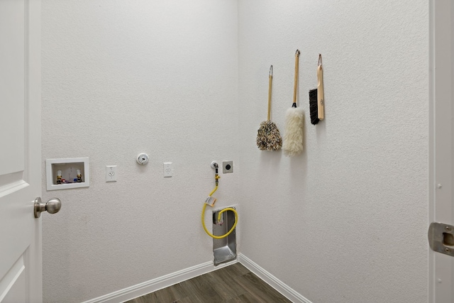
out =
[[(211, 160), (238, 163), (237, 24), (231, 0), (43, 0), (43, 168), (87, 156), (92, 177), (84, 189), (43, 184), (43, 199), (62, 199), (43, 217), (44, 302), (213, 258), (199, 218)], [(118, 182), (105, 182), (106, 165)], [(238, 175), (222, 175), (217, 206), (237, 202)]]

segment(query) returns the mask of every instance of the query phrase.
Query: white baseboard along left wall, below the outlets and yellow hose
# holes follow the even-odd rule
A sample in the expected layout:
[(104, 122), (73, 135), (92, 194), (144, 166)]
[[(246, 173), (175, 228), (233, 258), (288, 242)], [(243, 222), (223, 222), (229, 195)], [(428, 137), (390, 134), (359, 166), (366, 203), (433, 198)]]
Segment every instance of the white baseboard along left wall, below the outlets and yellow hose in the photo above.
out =
[(208, 272), (218, 270), (219, 268), (223, 268), (237, 262), (238, 259), (228, 263), (219, 264), (218, 266), (214, 266), (213, 261), (202, 263), (199, 265), (192, 266), (191, 268), (186, 268), (184, 270), (172, 272), (169, 275), (163, 275), (162, 277), (157, 277), (153, 280), (139, 283), (138, 285), (123, 288), (123, 290), (117, 290), (116, 292), (111, 292), (110, 294), (104, 294), (104, 296), (90, 299), (82, 303), (125, 302), (130, 299), (134, 299), (136, 297), (140, 297), (143, 296), (144, 294), (149, 294), (150, 292), (155, 292), (157, 290), (162, 290), (162, 288), (169, 287), (179, 282), (192, 279), (193, 277), (198, 277), (199, 275), (204, 275)]

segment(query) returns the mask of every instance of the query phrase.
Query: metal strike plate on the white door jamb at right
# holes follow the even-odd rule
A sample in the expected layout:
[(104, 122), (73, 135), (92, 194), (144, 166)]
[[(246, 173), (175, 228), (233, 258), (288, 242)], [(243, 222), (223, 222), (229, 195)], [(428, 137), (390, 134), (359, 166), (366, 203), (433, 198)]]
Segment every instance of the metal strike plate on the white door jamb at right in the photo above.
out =
[(428, 244), (433, 251), (454, 257), (454, 226), (432, 222), (428, 228)]

